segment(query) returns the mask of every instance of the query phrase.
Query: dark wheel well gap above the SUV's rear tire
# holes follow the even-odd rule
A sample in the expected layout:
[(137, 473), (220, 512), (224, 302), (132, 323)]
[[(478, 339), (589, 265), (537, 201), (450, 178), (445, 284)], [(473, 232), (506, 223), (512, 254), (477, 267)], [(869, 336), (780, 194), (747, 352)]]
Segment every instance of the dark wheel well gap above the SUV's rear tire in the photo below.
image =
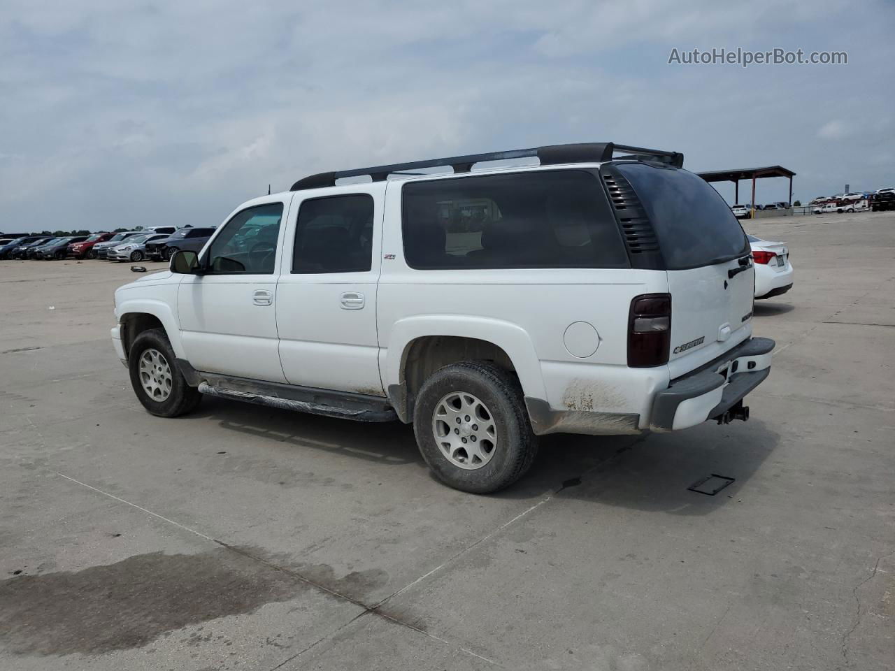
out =
[(439, 368), (458, 361), (491, 361), (502, 369), (516, 373), (507, 352), (487, 340), (458, 335), (416, 338), (406, 347), (401, 362), (401, 386), (407, 418), (413, 417), (413, 403), (422, 383)]

